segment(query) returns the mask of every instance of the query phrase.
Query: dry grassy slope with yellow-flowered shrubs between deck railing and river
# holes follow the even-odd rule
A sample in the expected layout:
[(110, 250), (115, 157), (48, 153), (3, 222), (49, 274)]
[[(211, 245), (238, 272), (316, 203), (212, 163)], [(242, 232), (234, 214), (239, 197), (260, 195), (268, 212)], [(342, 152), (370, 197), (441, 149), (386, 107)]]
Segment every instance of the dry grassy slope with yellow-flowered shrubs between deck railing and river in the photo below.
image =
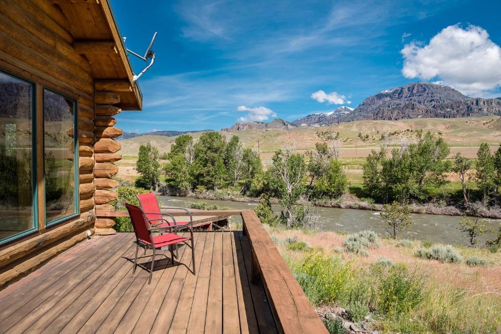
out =
[[(344, 320), (359, 326), (364, 322), (380, 332), (501, 329), (501, 252), (458, 246), (454, 251), (462, 261), (447, 263), (416, 257), (422, 246), (432, 246), (421, 241), (379, 238), (355, 255), (345, 247), (346, 235), (280, 228), (269, 232), (320, 313), (341, 306), (348, 310)], [(471, 256), (488, 265), (467, 265)], [(394, 268), (405, 269), (392, 277)], [(367, 314), (372, 322), (364, 319)]]

